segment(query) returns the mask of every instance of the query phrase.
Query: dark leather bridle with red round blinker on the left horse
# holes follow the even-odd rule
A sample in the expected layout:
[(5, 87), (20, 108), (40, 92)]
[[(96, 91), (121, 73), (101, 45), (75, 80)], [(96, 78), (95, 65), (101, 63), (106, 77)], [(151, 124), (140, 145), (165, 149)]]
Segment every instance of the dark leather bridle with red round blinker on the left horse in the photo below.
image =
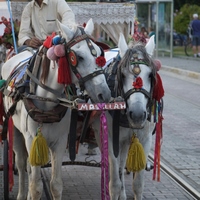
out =
[[(80, 73), (78, 72), (78, 70), (77, 70), (78, 57), (76, 55), (76, 52), (73, 51), (71, 49), (71, 47), (73, 47), (75, 44), (85, 40), (87, 42), (87, 46), (89, 47), (91, 54), (94, 57), (97, 57), (97, 52), (91, 42), (91, 40), (94, 42), (94, 39), (90, 35), (86, 34), (82, 27), (78, 27), (77, 31), (78, 30), (81, 31), (82, 35), (79, 35), (77, 37), (75, 36), (72, 40), (70, 40), (68, 43), (66, 43), (65, 50), (66, 50), (66, 56), (67, 56), (70, 68), (71, 68), (72, 72), (75, 74), (75, 76), (77, 77), (77, 79), (79, 80), (80, 88), (83, 91), (85, 89), (85, 86), (84, 86), (85, 82), (87, 82), (88, 80), (90, 80), (100, 74), (104, 74), (104, 71), (102, 69), (100, 69), (91, 74), (88, 74), (85, 77), (82, 77), (80, 75)], [(77, 34), (75, 34), (75, 35), (77, 35)], [(100, 56), (104, 56), (103, 50), (101, 48), (100, 48), (100, 50), (101, 50)]]

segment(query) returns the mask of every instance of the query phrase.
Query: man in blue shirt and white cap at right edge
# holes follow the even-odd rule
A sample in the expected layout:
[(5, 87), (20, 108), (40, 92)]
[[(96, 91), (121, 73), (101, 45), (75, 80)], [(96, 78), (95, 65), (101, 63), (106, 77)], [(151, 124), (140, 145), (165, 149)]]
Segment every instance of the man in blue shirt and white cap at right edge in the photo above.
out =
[(193, 14), (193, 21), (191, 22), (192, 29), (192, 49), (194, 57), (200, 57), (200, 20), (198, 14)]

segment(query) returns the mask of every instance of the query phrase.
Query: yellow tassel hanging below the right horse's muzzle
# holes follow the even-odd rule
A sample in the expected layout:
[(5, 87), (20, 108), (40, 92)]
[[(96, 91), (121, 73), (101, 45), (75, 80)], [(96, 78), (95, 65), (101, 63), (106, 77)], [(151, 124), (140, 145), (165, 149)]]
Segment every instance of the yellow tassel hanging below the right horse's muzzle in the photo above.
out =
[(146, 167), (146, 156), (138, 138), (134, 135), (131, 140), (126, 168), (129, 172), (137, 172)]

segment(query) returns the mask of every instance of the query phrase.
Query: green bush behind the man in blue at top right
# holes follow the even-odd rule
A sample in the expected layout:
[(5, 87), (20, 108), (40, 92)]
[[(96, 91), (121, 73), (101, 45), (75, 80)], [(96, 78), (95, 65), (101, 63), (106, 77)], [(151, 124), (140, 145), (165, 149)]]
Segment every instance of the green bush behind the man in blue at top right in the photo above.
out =
[(186, 34), (188, 30), (188, 25), (192, 20), (192, 15), (194, 13), (200, 16), (200, 6), (185, 4), (179, 12), (175, 13), (174, 16), (174, 29), (178, 33)]

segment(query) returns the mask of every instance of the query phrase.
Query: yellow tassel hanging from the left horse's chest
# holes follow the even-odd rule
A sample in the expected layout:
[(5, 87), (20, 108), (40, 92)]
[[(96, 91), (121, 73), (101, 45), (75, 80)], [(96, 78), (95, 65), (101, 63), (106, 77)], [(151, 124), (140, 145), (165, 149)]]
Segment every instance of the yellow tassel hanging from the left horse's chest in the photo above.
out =
[(49, 161), (48, 146), (42, 136), (40, 128), (37, 130), (36, 137), (33, 139), (29, 161), (32, 166), (43, 166)]

